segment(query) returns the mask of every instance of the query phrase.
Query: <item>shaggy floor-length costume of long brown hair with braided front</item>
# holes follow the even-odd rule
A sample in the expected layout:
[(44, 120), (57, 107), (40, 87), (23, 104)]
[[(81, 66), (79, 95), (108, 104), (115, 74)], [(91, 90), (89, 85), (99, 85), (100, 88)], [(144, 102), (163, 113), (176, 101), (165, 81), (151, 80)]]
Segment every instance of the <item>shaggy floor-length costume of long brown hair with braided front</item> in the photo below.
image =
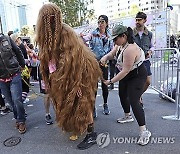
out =
[[(36, 31), (40, 69), (55, 106), (57, 123), (67, 132), (82, 134), (93, 122), (95, 92), (101, 76), (99, 64), (74, 30), (62, 22), (57, 5), (43, 5)], [(50, 60), (56, 64), (52, 74), (48, 73)], [(77, 96), (79, 89), (80, 98)]]

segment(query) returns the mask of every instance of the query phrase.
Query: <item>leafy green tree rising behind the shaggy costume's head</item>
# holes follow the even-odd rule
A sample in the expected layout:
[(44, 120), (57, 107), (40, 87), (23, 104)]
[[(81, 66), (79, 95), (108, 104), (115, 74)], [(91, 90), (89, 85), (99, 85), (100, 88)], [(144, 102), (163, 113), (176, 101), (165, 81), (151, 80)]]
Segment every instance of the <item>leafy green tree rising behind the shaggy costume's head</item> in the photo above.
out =
[[(72, 27), (81, 26), (87, 18), (94, 15), (94, 10), (88, 10), (87, 0), (49, 0), (61, 8), (63, 20)], [(92, 2), (91, 2), (92, 3)]]

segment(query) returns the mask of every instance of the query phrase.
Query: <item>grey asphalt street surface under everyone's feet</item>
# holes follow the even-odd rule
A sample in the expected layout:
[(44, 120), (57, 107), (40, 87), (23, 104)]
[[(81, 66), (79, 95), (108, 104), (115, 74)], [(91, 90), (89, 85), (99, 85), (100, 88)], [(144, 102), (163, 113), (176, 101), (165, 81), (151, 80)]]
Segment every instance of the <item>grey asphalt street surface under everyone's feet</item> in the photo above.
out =
[[(38, 85), (33, 89), (39, 92)], [(27, 132), (24, 135), (14, 128), (12, 113), (0, 116), (0, 154), (177, 154), (180, 143), (180, 121), (164, 120), (162, 116), (175, 113), (176, 105), (161, 100), (158, 94), (148, 90), (143, 96), (145, 114), (148, 129), (152, 132), (152, 139), (146, 146), (140, 146), (135, 142), (129, 143), (125, 139), (138, 137), (138, 125), (134, 121), (128, 124), (119, 124), (116, 119), (123, 116), (122, 107), (118, 98), (117, 88), (110, 91), (109, 108), (110, 115), (102, 113), (101, 90), (98, 91), (96, 107), (98, 117), (95, 120), (95, 130), (99, 133), (110, 134), (110, 144), (105, 148), (94, 145), (91, 148), (80, 151), (76, 145), (82, 140), (70, 141), (69, 134), (62, 133), (56, 125), (46, 125), (43, 98), (29, 94), (30, 101), (25, 104), (27, 110)], [(51, 113), (54, 118), (53, 109)], [(13, 147), (3, 145), (4, 140), (15, 136), (21, 137), (21, 142)], [(168, 143), (169, 142), (169, 143)]]

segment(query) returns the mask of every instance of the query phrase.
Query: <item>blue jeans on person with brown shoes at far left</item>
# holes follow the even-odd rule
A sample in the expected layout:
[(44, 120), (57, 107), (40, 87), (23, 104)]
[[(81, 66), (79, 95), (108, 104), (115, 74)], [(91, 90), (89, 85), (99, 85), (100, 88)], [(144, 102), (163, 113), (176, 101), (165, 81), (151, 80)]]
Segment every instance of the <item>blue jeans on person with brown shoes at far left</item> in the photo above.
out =
[(17, 122), (25, 122), (25, 110), (22, 103), (21, 74), (14, 76), (9, 82), (0, 81), (0, 89), (5, 96), (5, 102), (13, 108), (14, 118)]

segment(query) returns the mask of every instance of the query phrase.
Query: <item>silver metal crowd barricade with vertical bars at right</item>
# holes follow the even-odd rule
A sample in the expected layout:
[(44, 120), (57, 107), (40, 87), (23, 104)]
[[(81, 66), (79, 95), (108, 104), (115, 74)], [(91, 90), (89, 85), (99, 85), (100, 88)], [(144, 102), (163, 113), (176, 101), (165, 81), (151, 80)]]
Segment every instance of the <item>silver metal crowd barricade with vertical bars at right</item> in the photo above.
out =
[(163, 119), (180, 120), (180, 53), (176, 48), (155, 49), (151, 58), (151, 87), (176, 103), (176, 113)]

